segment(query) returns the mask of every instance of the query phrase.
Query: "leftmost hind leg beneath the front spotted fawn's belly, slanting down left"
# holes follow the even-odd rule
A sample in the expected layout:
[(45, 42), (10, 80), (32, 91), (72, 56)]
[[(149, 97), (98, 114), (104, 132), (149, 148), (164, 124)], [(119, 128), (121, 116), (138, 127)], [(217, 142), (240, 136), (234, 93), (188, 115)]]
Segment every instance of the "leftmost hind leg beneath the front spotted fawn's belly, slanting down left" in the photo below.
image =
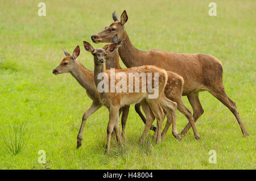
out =
[(144, 128), (144, 131), (142, 133), (142, 136), (139, 140), (139, 144), (143, 144), (148, 132), (150, 131), (150, 128), (152, 126), (152, 123), (154, 122), (155, 120), (155, 115), (154, 113), (151, 111), (151, 108), (148, 106), (148, 104), (143, 100), (141, 102), (141, 106), (142, 106), (142, 109), (145, 113), (145, 116), (146, 116), (146, 123), (145, 123), (145, 128)]

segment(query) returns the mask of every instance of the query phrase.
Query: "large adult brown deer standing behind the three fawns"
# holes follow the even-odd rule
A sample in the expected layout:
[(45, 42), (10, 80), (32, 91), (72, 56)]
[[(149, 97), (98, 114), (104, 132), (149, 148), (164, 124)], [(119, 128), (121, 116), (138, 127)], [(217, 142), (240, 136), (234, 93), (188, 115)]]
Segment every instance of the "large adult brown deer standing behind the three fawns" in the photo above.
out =
[[(168, 71), (174, 71), (184, 79), (182, 95), (187, 95), (189, 103), (193, 108), (193, 118), (196, 121), (204, 110), (199, 100), (200, 91), (209, 91), (220, 100), (236, 117), (242, 130), (243, 136), (249, 136), (237, 111), (236, 103), (231, 100), (225, 92), (222, 82), (222, 64), (216, 58), (204, 53), (171, 53), (162, 50), (138, 50), (131, 44), (129, 36), (125, 31), (125, 23), (128, 20), (126, 11), (123, 11), (119, 21), (115, 12), (114, 23), (105, 27), (105, 30), (92, 35), (94, 43), (110, 43), (115, 34), (119, 41), (123, 41), (118, 48), (119, 56), (127, 68), (142, 65), (155, 65)], [(180, 111), (180, 108), (177, 108)], [(181, 134), (187, 133), (191, 124), (188, 123)]]

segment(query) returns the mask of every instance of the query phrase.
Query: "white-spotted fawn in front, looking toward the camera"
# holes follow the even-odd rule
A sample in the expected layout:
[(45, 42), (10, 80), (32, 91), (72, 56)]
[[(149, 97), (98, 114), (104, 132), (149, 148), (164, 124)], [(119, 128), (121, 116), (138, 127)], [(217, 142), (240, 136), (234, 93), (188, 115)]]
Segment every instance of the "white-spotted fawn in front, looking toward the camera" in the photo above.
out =
[[(164, 119), (164, 113), (162, 110), (163, 106), (167, 110), (167, 116), (171, 117), (172, 120), (172, 134), (176, 138), (180, 138), (180, 136), (177, 134), (177, 128), (176, 128), (176, 107), (177, 104), (175, 102), (172, 102), (171, 100), (167, 99), (166, 96), (164, 96), (164, 87), (167, 83), (167, 73), (163, 69), (156, 68), (156, 66), (139, 66), (137, 68), (130, 68), (130, 69), (117, 69), (114, 70), (115, 74), (122, 74), (125, 75), (126, 78), (124, 81), (129, 82), (129, 76), (130, 74), (137, 74), (137, 77), (139, 74), (144, 73), (146, 75), (147, 82), (143, 82), (142, 78), (138, 77), (138, 89), (139, 91), (134, 91), (134, 87), (136, 87), (136, 82), (134, 81), (134, 78), (131, 80), (131, 82), (128, 83), (128, 85), (122, 84), (122, 90), (129, 90), (129, 91), (109, 91), (108, 87), (117, 86), (118, 81), (114, 80), (112, 82), (111, 79), (111, 71), (106, 70), (104, 68), (104, 60), (107, 54), (114, 52), (114, 50), (117, 48), (118, 43), (112, 43), (108, 45), (105, 49), (97, 48), (94, 49), (92, 45), (90, 45), (88, 42), (84, 41), (84, 48), (86, 51), (92, 53), (94, 57), (94, 82), (97, 88), (99, 89), (100, 85), (102, 86), (102, 79), (98, 79), (102, 75), (104, 76), (103, 81), (107, 82), (106, 85), (104, 85), (104, 91), (100, 91), (100, 101), (101, 104), (108, 108), (109, 110), (109, 123), (107, 128), (107, 142), (106, 142), (106, 149), (105, 153), (108, 152), (110, 148), (110, 138), (111, 133), (113, 131), (113, 128), (117, 128), (118, 126), (114, 127), (114, 125), (118, 125), (118, 111), (119, 108), (123, 106), (127, 106), (134, 103), (141, 103), (142, 105), (147, 104), (149, 108), (154, 112), (156, 121), (157, 121), (157, 127), (156, 127), (156, 143), (159, 143), (161, 140), (161, 128), (162, 123)], [(104, 74), (105, 73), (105, 74)], [(149, 75), (149, 74), (151, 75)], [(154, 73), (154, 76), (152, 76), (152, 73)], [(158, 75), (157, 76), (155, 75)], [(136, 78), (135, 78), (136, 79)], [(152, 87), (154, 89), (158, 89), (158, 96), (155, 98), (150, 98), (152, 95), (152, 92), (148, 90), (148, 87), (150, 86), (148, 81), (152, 81)], [(159, 81), (157, 83), (157, 81)], [(114, 84), (112, 84), (114, 83)], [(155, 85), (156, 83), (156, 85)], [(146, 86), (146, 87), (144, 87)], [(132, 87), (132, 91), (130, 91), (130, 87)], [(152, 88), (151, 87), (151, 88)], [(146, 88), (142, 91), (143, 88)], [(146, 117), (150, 113), (149, 110), (146, 110)], [(146, 126), (144, 128), (143, 134), (140, 139), (140, 143), (144, 141), (144, 138), (147, 136), (148, 131), (150, 130), (150, 127), (152, 125), (154, 120), (147, 117)], [(115, 129), (115, 133), (117, 137), (119, 136), (119, 129)], [(118, 138), (118, 140), (121, 140)], [(121, 141), (119, 142), (121, 144)]]

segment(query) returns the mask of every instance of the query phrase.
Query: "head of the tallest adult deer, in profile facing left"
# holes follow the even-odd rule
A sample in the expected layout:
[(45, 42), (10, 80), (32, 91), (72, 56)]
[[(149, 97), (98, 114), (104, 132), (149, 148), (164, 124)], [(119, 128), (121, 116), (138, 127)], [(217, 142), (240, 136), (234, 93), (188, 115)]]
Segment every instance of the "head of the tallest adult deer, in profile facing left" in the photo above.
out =
[(110, 24), (110, 26), (106, 26), (105, 30), (91, 36), (93, 43), (111, 43), (115, 35), (119, 37), (119, 40), (125, 39), (125, 23), (128, 20), (126, 11), (123, 11), (120, 21), (115, 12), (112, 17), (114, 23)]

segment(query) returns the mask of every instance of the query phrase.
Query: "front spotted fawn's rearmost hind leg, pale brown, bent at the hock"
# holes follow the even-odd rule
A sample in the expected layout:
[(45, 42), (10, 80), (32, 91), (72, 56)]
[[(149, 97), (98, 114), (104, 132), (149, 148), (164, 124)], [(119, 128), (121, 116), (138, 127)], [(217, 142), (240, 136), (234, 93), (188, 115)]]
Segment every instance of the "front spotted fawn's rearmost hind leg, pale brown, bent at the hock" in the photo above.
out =
[[(173, 102), (170, 99), (167, 99), (166, 96), (162, 96), (160, 98), (160, 104), (167, 110), (167, 123), (168, 125), (164, 128), (164, 132), (162, 133), (163, 137), (166, 134), (168, 128), (172, 123), (172, 135), (178, 140), (181, 139), (180, 135), (177, 132), (177, 125), (176, 125), (176, 110), (177, 110), (177, 103)], [(170, 124), (170, 125), (169, 125)]]

